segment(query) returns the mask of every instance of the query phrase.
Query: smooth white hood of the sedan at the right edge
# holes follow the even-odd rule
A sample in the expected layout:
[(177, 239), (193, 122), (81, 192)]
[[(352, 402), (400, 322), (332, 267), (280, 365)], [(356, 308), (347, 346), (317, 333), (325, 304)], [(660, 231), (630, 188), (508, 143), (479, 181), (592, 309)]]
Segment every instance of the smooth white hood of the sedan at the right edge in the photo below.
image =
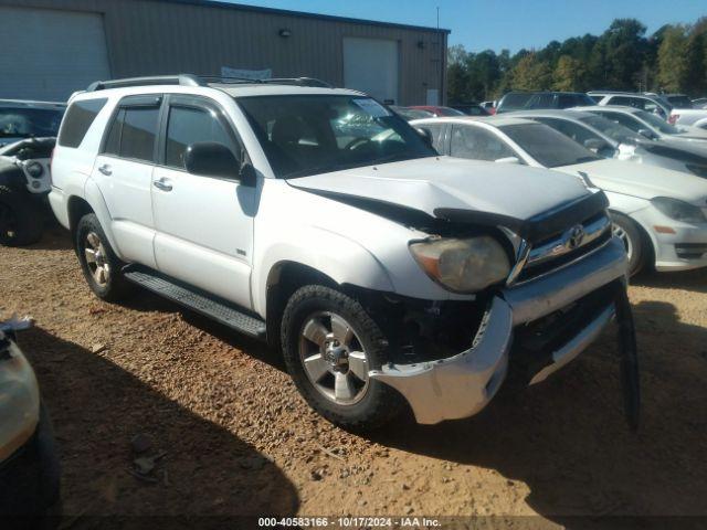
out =
[(624, 195), (642, 199), (673, 197), (700, 205), (705, 204), (707, 198), (707, 180), (657, 166), (609, 159), (556, 169), (569, 174), (582, 171), (602, 190)]

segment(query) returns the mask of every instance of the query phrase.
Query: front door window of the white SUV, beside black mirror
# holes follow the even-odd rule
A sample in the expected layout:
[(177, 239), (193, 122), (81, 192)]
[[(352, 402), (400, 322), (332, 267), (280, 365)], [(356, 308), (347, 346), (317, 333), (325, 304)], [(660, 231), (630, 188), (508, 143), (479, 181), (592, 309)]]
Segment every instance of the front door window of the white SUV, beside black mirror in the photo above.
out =
[(184, 169), (184, 153), (191, 144), (213, 141), (231, 147), (232, 140), (223, 124), (204, 108), (172, 106), (167, 125), (165, 165)]

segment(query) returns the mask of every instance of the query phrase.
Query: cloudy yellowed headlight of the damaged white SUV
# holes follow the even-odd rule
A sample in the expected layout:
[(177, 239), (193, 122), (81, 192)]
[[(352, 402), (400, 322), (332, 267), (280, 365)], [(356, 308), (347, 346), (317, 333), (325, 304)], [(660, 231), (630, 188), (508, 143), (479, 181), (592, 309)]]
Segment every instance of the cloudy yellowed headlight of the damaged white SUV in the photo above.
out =
[(476, 293), (510, 273), (508, 254), (488, 235), (415, 242), (410, 251), (430, 277), (455, 293)]

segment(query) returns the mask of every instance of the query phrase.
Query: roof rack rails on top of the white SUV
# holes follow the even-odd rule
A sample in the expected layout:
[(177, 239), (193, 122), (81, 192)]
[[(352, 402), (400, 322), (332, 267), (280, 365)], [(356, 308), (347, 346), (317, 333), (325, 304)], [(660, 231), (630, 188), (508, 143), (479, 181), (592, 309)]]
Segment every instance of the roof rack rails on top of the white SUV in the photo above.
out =
[(209, 83), (223, 84), (274, 84), (314, 86), (320, 88), (333, 88), (333, 86), (321, 80), (314, 77), (271, 77), (265, 80), (251, 80), (247, 77), (226, 77), (220, 75), (155, 75), (149, 77), (128, 77), (125, 80), (96, 81), (88, 85), (87, 92), (105, 91), (108, 88), (125, 88), (128, 86), (145, 85), (180, 85), (180, 86), (209, 86)]

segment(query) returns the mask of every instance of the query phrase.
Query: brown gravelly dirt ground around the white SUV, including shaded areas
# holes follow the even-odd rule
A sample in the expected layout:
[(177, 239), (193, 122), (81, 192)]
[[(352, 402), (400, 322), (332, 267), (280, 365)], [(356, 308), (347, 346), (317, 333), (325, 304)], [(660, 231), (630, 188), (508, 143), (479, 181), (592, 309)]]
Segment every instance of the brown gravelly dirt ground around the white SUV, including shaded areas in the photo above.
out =
[[(146, 292), (97, 300), (59, 229), (0, 247), (0, 317), (53, 418), (66, 513), (707, 515), (707, 273), (631, 287), (643, 424), (623, 420), (613, 336), (559, 378), (436, 426), (363, 436), (299, 399), (276, 353)], [(130, 439), (166, 452), (131, 474)]]

